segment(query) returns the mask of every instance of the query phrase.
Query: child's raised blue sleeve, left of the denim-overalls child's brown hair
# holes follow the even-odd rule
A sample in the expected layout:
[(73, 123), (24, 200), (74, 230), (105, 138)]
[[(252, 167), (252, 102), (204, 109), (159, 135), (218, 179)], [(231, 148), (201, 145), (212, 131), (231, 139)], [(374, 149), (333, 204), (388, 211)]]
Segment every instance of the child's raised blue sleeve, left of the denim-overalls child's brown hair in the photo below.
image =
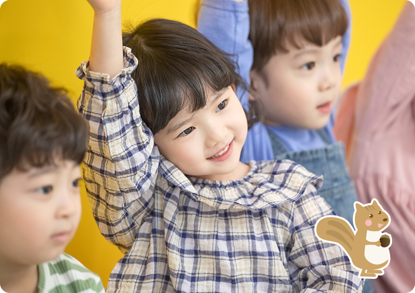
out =
[[(237, 72), (250, 84), (249, 71), (253, 61), (249, 36), (248, 1), (202, 0), (197, 28), (215, 46), (231, 54)], [(236, 95), (248, 109), (248, 93), (238, 88)]]

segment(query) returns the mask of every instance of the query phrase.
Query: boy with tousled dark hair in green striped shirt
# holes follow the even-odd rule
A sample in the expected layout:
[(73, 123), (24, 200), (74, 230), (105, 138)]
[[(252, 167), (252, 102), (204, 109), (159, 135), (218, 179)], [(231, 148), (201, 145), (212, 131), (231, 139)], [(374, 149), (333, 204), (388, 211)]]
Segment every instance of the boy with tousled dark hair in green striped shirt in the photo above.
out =
[(104, 293), (63, 253), (81, 220), (88, 127), (41, 74), (0, 64), (0, 292)]

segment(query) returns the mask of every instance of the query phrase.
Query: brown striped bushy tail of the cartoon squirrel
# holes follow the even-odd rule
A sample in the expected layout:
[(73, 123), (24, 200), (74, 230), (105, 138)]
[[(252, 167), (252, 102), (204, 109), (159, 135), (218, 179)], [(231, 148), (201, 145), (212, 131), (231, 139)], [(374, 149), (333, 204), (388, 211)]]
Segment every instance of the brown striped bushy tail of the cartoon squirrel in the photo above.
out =
[(335, 242), (341, 245), (351, 255), (354, 231), (349, 223), (337, 217), (325, 217), (318, 221), (315, 232), (325, 241)]

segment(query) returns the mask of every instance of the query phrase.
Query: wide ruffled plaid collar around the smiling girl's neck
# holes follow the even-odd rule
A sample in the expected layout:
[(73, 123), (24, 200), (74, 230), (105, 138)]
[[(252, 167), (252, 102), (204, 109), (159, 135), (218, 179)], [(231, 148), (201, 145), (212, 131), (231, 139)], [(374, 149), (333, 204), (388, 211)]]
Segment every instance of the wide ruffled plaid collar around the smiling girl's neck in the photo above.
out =
[(322, 176), (290, 160), (250, 161), (249, 167), (248, 174), (235, 181), (200, 179), (186, 176), (161, 155), (159, 171), (194, 200), (216, 209), (269, 209), (296, 201), (309, 184), (323, 184)]

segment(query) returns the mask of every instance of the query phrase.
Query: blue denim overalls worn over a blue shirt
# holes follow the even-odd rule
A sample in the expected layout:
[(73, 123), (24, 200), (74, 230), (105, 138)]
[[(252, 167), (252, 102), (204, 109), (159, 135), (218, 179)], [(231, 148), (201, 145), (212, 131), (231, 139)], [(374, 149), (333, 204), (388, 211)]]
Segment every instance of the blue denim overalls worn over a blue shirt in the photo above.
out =
[[(332, 206), (334, 213), (345, 218), (352, 225), (356, 190), (346, 167), (345, 151), (342, 142), (332, 144), (326, 128), (317, 130), (326, 147), (301, 151), (287, 151), (281, 139), (268, 131), (274, 159), (288, 159), (304, 166), (316, 175), (323, 175), (323, 186), (318, 194)], [(372, 285), (365, 281), (363, 293), (373, 293)]]

